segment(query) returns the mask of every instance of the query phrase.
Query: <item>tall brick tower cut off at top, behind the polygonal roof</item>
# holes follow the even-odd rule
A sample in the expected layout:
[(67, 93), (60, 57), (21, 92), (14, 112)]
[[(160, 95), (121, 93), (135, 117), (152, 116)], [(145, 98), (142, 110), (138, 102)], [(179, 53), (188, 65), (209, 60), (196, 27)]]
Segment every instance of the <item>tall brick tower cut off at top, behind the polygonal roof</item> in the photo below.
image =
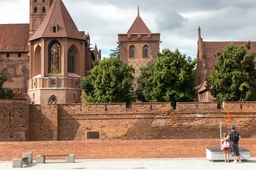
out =
[(38, 30), (53, 0), (30, 0), (29, 2), (29, 38)]

